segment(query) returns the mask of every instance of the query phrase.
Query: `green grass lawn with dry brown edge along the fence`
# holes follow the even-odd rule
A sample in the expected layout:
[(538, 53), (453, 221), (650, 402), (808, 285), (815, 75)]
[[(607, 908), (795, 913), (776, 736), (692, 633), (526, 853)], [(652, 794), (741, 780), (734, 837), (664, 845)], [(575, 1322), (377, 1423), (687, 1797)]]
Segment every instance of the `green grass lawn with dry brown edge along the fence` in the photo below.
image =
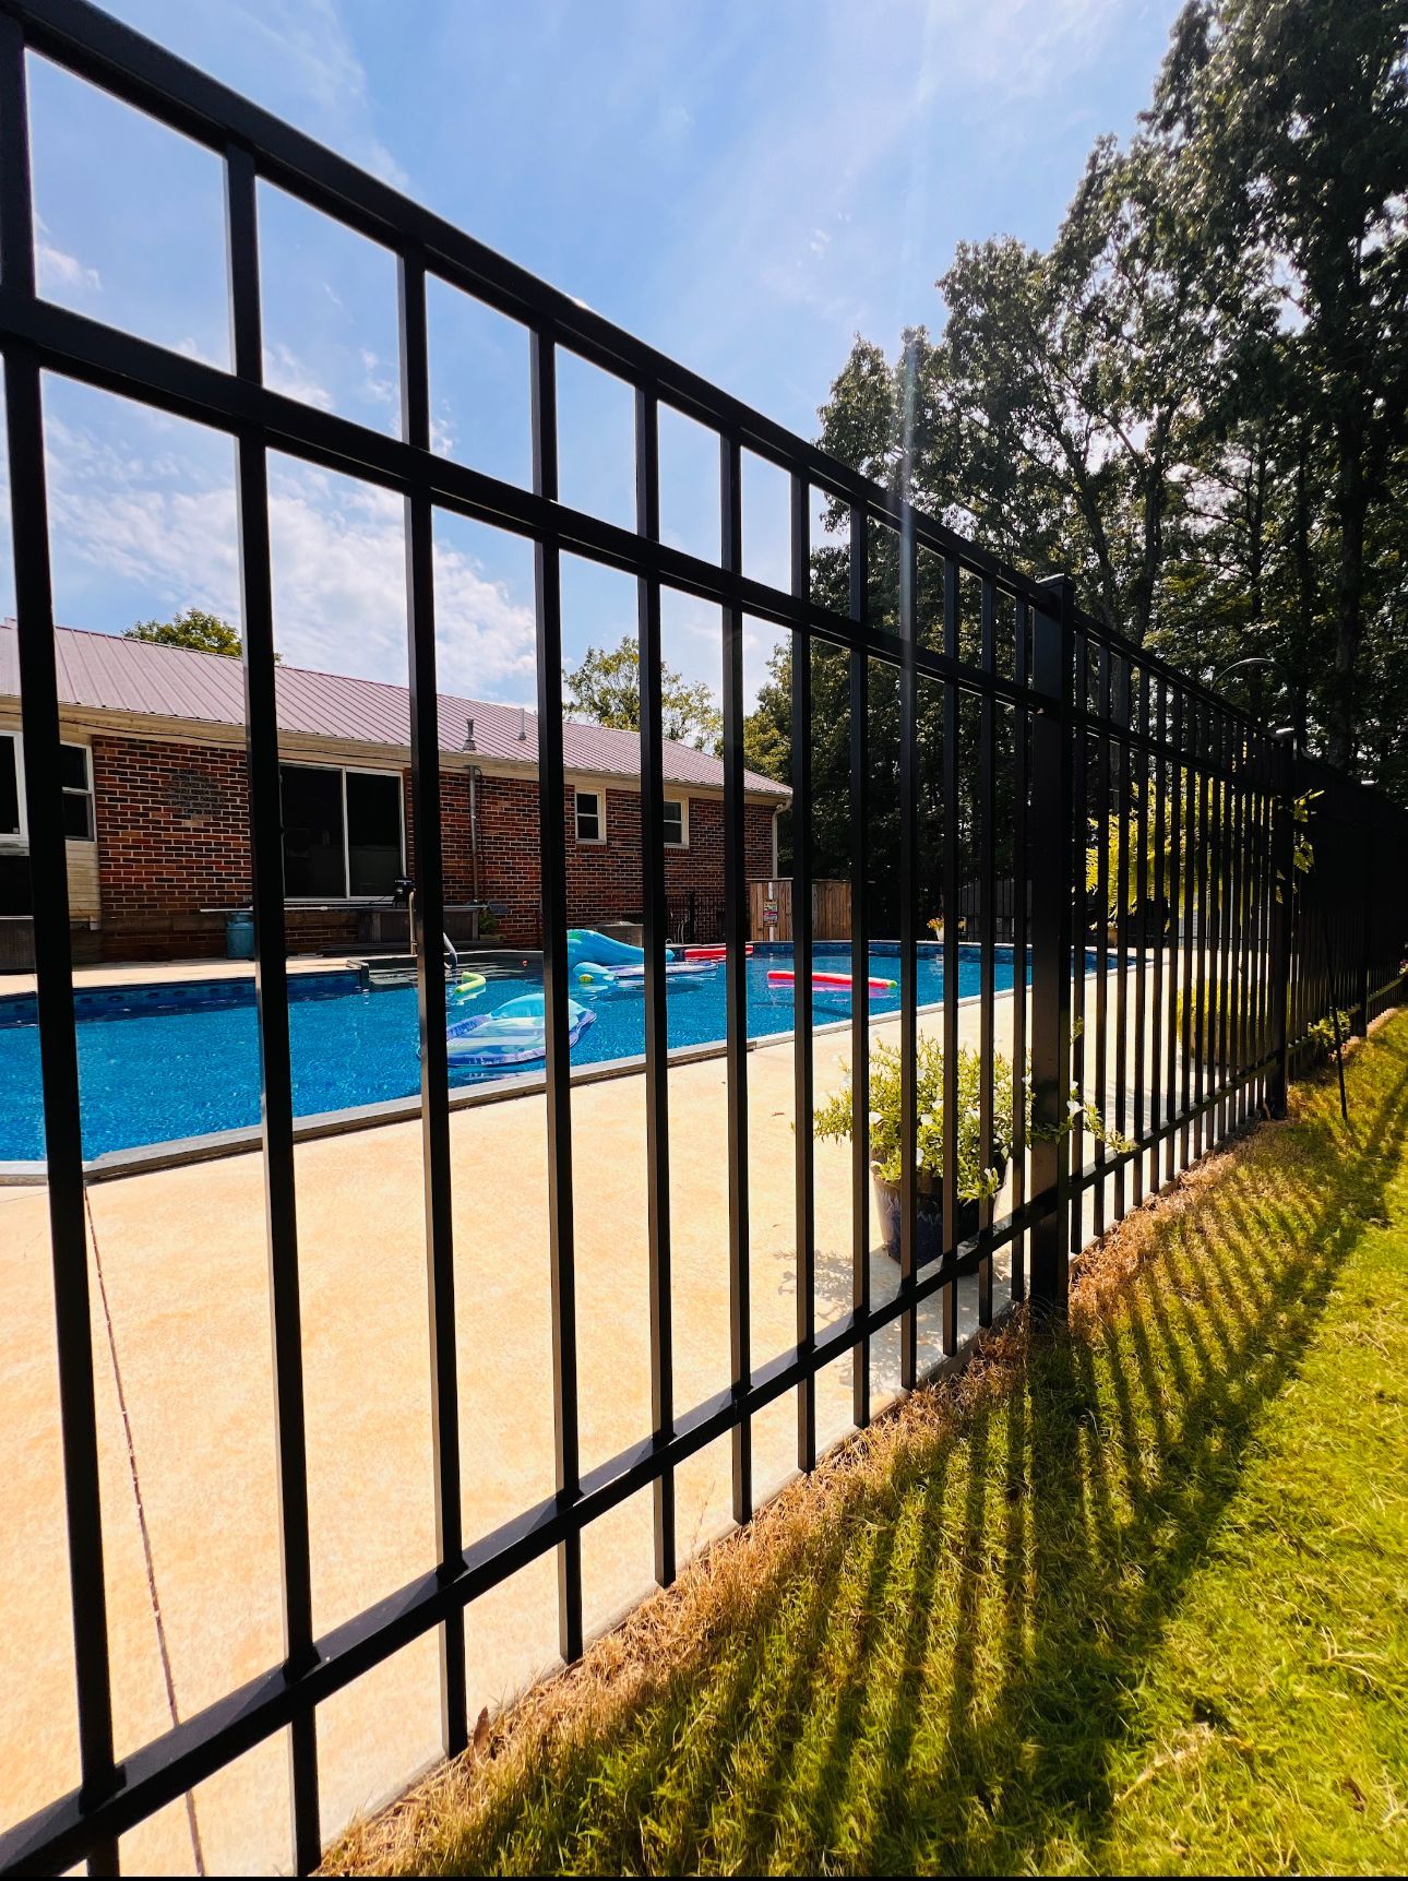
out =
[(1408, 1868), (1408, 1016), (335, 1855)]

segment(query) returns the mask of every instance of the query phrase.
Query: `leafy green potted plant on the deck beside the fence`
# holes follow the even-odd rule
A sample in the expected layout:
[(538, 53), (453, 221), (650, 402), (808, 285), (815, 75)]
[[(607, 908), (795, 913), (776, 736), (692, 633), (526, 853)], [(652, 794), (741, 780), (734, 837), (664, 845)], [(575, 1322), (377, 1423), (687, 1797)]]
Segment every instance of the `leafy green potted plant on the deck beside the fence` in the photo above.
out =
[[(850, 1068), (838, 1091), (827, 1097), (814, 1114), (816, 1136), (821, 1142), (850, 1140), (852, 1082)], [(1011, 1104), (1002, 1095), (1011, 1089), (1011, 1063), (1000, 1053), (993, 1057), (993, 1132), (981, 1134), (981, 1057), (970, 1046), (959, 1048), (959, 1240), (978, 1234), (979, 1208), (1004, 1183), (1011, 1161)], [(944, 1253), (944, 1048), (934, 1036), (921, 1035), (915, 1044), (914, 1067), (914, 1257), (915, 1266), (938, 1260)], [(900, 1253), (900, 1053), (899, 1046), (876, 1044), (870, 1051), (870, 1178), (884, 1232), (885, 1253), (899, 1260)], [(1083, 1104), (1072, 1087), (1070, 1108), (1062, 1132), (1087, 1129), (1117, 1149), (1132, 1147), (1113, 1130), (1092, 1104)], [(1026, 1083), (1026, 1134), (1032, 1129), (1032, 1091)]]

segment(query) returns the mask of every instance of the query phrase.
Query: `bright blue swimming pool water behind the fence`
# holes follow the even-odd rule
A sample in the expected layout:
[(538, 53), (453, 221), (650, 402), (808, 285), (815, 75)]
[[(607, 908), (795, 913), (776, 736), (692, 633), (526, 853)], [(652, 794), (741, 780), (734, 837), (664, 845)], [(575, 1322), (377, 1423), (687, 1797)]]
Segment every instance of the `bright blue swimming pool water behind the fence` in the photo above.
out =
[[(829, 957), (835, 956), (835, 957)], [(790, 948), (758, 950), (748, 961), (748, 1036), (791, 1031), (791, 988), (767, 984), (769, 967), (790, 967)], [(850, 948), (820, 944), (816, 967), (848, 971)], [(899, 950), (878, 944), (870, 954), (876, 978), (899, 980)], [(979, 989), (979, 950), (959, 950), (959, 993)], [(1011, 948), (996, 950), (998, 991), (1011, 986)], [(489, 1012), (541, 980), (491, 980), (457, 1016)], [(301, 1117), (357, 1104), (382, 1104), (419, 1091), (417, 1020), (414, 988), (363, 993), (348, 971), (297, 974), (289, 982), (289, 1042), (293, 1108)], [(637, 1057), (645, 1050), (643, 993), (613, 989), (573, 997), (590, 1004), (594, 1023), (571, 1053), (573, 1065)], [(921, 1006), (944, 997), (938, 950), (919, 956)], [(874, 1012), (899, 1010), (899, 989), (870, 995)], [(212, 1130), (248, 1129), (259, 1121), (259, 1036), (250, 982), (196, 980), (186, 984), (96, 989), (77, 995), (83, 1153), (105, 1155), (139, 1144), (162, 1144)], [(667, 993), (669, 1044), (694, 1046), (724, 1038), (724, 967)], [(816, 1023), (844, 1020), (846, 995), (818, 989)], [(528, 1067), (524, 1076), (541, 1072)], [(500, 1074), (502, 1076), (502, 1074)], [(451, 1083), (470, 1083), (451, 1070)], [(39, 1100), (39, 1036), (34, 999), (0, 997), (0, 1162), (43, 1157)]]

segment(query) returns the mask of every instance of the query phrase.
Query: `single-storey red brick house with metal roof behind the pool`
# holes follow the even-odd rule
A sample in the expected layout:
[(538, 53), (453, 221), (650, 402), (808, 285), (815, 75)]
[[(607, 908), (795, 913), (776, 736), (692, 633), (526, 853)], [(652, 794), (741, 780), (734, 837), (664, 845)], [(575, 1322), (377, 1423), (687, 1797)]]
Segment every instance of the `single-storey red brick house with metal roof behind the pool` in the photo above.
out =
[[(244, 679), (214, 653), (75, 628), (56, 632), (64, 813), (75, 954), (188, 959), (226, 948), (250, 899)], [(0, 920), (28, 912), (15, 624), (0, 626)], [(289, 948), (404, 935), (387, 912), (414, 863), (404, 687), (278, 668)], [(639, 739), (564, 724), (568, 914), (639, 920)], [(496, 939), (538, 946), (538, 720), (440, 696), (446, 903), (453, 939), (491, 905)], [(788, 790), (746, 773), (746, 875), (776, 873)], [(724, 767), (665, 745), (665, 890), (707, 922), (724, 893)], [(714, 916), (716, 918), (716, 916)], [(402, 922), (397, 927), (397, 920)], [(4, 956), (0, 956), (4, 957)]]

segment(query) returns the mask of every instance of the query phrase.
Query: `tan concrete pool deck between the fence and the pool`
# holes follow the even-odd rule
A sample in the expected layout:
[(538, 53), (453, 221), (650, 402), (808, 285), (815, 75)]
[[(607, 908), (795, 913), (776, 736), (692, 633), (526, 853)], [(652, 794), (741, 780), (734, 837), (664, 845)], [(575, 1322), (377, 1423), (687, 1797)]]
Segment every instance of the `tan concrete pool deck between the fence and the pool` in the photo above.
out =
[[(327, 963), (320, 963), (327, 965)], [(1111, 976), (1113, 984), (1113, 976)], [(1011, 995), (996, 1001), (1009, 1050)], [(921, 1027), (938, 1023), (936, 1012)], [(893, 1036), (895, 1020), (876, 1025)], [(976, 1042), (978, 1004), (961, 1008)], [(816, 1036), (831, 1091), (846, 1031)], [(573, 1085), (583, 1469), (650, 1430), (645, 1082)], [(729, 1381), (726, 1067), (671, 1065), (675, 1401)], [(793, 1046), (748, 1055), (754, 1364), (795, 1339)], [(453, 1162), (466, 1541), (553, 1492), (545, 1102), (455, 1112)], [(320, 1633), (434, 1561), (421, 1132), (417, 1121), (299, 1144), (314, 1623)], [(818, 1324), (850, 1309), (850, 1146), (816, 1146)], [(88, 1193), (109, 1633), (118, 1755), (280, 1659), (263, 1161), (258, 1153)], [(880, 1228), (872, 1211), (872, 1247)], [(876, 1300), (897, 1270), (872, 1253)], [(998, 1258), (1006, 1270), (1006, 1258)], [(11, 1746), (0, 1825), (73, 1787), (77, 1732), (58, 1454), (49, 1225), (41, 1189), (0, 1193), (0, 1704)], [(1006, 1288), (998, 1283), (996, 1298)], [(962, 1330), (976, 1285), (961, 1288)], [(940, 1358), (940, 1304), (919, 1313)], [(876, 1405), (899, 1330), (874, 1341)], [(852, 1362), (818, 1377), (821, 1443), (852, 1428)], [(759, 1499), (793, 1473), (795, 1403), (754, 1422)], [(727, 1441), (677, 1475), (684, 1559), (731, 1527)], [(649, 1494), (583, 1541), (587, 1627), (652, 1584)], [(556, 1659), (551, 1556), (468, 1610), (470, 1715)], [(318, 1714), (323, 1832), (438, 1757), (427, 1636)], [(289, 1860), (288, 1757), (273, 1740), (124, 1838), (130, 1872), (269, 1872)]]

